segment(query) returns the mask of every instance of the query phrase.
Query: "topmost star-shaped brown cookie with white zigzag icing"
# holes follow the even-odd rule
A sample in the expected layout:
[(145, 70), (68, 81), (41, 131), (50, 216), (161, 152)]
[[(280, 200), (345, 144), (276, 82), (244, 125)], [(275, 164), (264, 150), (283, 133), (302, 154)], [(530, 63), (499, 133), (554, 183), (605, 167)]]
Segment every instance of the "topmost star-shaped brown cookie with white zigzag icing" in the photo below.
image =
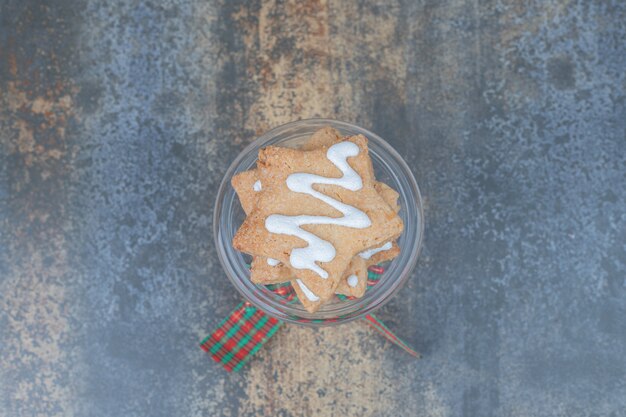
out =
[(400, 218), (374, 188), (367, 152), (360, 135), (311, 151), (261, 150), (263, 191), (234, 247), (287, 264), (322, 301), (330, 298), (354, 255), (402, 232)]

